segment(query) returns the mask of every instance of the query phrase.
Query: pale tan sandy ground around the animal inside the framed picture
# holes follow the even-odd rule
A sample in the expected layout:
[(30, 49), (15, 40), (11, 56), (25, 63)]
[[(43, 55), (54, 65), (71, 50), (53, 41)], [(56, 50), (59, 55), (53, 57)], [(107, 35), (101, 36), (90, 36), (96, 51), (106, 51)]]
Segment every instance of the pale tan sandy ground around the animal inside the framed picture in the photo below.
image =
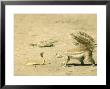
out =
[[(67, 50), (80, 51), (74, 46), (70, 33), (83, 31), (97, 39), (97, 16), (95, 14), (16, 14), (14, 16), (14, 75), (15, 76), (96, 76), (97, 66), (89, 63), (80, 65), (70, 60), (63, 67), (65, 57), (57, 58), (56, 53)], [(42, 40), (53, 39), (54, 47), (31, 46)], [(96, 40), (97, 42), (97, 40)], [(40, 53), (44, 52), (45, 65)], [(97, 63), (96, 50), (94, 60)], [(35, 63), (36, 65), (29, 65)], [(73, 65), (76, 63), (76, 65)]]

